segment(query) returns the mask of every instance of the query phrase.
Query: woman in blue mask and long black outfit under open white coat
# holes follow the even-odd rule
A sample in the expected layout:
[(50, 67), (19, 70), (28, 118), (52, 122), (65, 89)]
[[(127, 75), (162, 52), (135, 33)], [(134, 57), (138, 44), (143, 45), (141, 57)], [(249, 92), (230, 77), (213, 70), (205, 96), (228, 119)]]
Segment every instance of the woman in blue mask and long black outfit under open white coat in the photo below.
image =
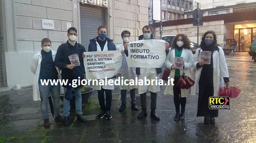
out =
[(229, 84), (224, 51), (217, 45), (215, 32), (207, 31), (203, 35), (200, 48), (195, 52), (193, 65), (196, 72), (191, 93), (198, 93), (197, 117), (203, 116), (205, 124), (213, 125), (215, 117), (218, 117), (218, 109), (209, 109), (209, 96), (218, 96), (219, 88), (224, 87), (224, 82), (226, 85)]

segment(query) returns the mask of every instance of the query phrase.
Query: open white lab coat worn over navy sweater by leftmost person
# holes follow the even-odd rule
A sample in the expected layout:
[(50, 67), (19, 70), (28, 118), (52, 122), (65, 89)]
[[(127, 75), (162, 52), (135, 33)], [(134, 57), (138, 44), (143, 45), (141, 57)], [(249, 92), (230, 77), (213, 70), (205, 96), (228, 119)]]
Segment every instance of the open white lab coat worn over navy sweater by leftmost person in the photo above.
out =
[[(56, 56), (56, 52), (52, 50), (53, 62), (54, 62), (55, 56)], [(35, 74), (35, 78), (33, 82), (33, 100), (34, 101), (41, 100), (40, 94), (39, 94), (39, 88), (38, 88), (38, 80), (39, 80), (40, 69), (41, 69), (41, 60), (42, 60), (42, 55), (40, 51), (34, 55), (32, 62), (30, 64), (30, 70), (32, 71), (32, 73)], [(59, 79), (61, 79), (61, 73), (58, 67), (56, 67), (56, 70), (58, 72)], [(64, 90), (62, 86), (61, 86), (61, 94), (64, 94)]]

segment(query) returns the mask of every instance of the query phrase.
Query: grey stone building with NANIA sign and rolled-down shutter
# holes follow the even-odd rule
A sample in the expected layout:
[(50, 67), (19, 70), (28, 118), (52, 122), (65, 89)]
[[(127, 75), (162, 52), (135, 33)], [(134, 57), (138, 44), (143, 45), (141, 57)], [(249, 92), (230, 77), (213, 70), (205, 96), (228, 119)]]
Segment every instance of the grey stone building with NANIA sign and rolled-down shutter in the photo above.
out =
[(43, 38), (57, 50), (67, 42), (67, 29), (76, 27), (87, 50), (99, 25), (115, 44), (122, 43), (123, 30), (135, 41), (148, 25), (148, 0), (0, 0), (0, 86), (32, 85), (30, 62)]

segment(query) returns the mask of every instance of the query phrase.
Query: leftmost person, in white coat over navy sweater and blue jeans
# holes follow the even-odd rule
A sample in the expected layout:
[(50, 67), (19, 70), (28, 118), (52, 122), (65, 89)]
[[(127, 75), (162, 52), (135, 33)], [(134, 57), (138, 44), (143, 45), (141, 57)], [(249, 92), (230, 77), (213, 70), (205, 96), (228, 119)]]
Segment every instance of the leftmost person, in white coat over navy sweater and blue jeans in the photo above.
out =
[[(55, 121), (61, 122), (60, 115), (60, 84), (58, 85), (42, 85), (41, 80), (57, 80), (60, 73), (58, 68), (54, 65), (56, 52), (51, 50), (52, 42), (48, 38), (44, 38), (41, 41), (42, 50), (35, 54), (30, 64), (32, 73), (35, 74), (33, 83), (33, 100), (41, 100), (41, 110), (44, 119), (44, 127), (50, 126), (49, 112), (48, 112), (48, 97), (52, 94), (53, 109), (55, 113)], [(59, 76), (59, 77), (58, 77)]]

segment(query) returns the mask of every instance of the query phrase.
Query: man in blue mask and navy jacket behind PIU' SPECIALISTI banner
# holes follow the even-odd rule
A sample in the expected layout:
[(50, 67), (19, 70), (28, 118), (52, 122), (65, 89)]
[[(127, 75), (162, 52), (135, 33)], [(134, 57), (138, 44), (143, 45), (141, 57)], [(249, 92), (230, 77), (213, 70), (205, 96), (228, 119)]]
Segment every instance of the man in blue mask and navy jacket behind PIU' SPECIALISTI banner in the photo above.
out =
[[(113, 40), (107, 38), (107, 29), (105, 26), (101, 25), (98, 28), (98, 35), (96, 38), (90, 39), (90, 44), (88, 47), (88, 52), (91, 51), (108, 51), (108, 50), (116, 50), (116, 45), (113, 43)], [(122, 55), (124, 54), (124, 51), (122, 50)], [(116, 76), (112, 77), (116, 78)], [(111, 78), (111, 79), (112, 79)], [(114, 90), (114, 84), (113, 85), (95, 85), (95, 90), (98, 90), (98, 99), (99, 99), (99, 105), (101, 112), (98, 115), (98, 119), (101, 119), (105, 116), (106, 119), (111, 119), (111, 101), (112, 101), (112, 91)], [(105, 105), (105, 97), (104, 92), (106, 94), (106, 105)]]

